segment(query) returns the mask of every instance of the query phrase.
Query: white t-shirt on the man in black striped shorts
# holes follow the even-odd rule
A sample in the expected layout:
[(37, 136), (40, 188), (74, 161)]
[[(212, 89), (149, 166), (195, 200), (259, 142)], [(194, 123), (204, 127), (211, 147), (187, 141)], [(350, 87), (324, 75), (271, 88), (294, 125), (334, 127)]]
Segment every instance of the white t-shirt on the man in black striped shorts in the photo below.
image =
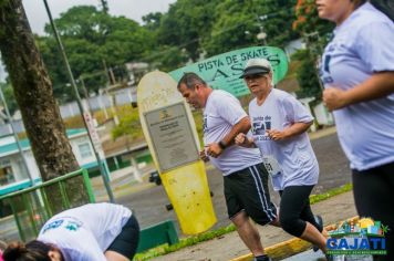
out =
[[(219, 143), (230, 133), (234, 125), (247, 116), (239, 101), (230, 93), (212, 91), (204, 109), (204, 144)], [(227, 147), (217, 158), (210, 157), (210, 161), (224, 176), (259, 164), (261, 160), (259, 149), (237, 145)]]

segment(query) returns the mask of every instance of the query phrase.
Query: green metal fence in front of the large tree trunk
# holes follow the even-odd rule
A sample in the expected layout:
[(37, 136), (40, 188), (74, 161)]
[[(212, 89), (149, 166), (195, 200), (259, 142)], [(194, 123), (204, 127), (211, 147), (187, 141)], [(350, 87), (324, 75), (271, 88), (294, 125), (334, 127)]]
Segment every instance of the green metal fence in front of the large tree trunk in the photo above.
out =
[[(84, 189), (81, 190), (80, 186)], [(11, 207), (19, 237), (23, 241), (34, 239), (52, 216), (65, 209), (95, 202), (86, 169), (2, 196), (0, 200)]]

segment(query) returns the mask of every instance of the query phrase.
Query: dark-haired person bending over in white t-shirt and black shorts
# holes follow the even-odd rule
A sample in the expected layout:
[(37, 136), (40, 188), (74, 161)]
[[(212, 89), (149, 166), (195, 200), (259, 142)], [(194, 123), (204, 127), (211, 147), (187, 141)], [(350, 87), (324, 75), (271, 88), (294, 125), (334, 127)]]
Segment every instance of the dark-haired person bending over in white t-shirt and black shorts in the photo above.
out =
[(121, 205), (89, 203), (52, 217), (37, 240), (10, 243), (4, 261), (127, 261), (132, 260), (139, 227)]

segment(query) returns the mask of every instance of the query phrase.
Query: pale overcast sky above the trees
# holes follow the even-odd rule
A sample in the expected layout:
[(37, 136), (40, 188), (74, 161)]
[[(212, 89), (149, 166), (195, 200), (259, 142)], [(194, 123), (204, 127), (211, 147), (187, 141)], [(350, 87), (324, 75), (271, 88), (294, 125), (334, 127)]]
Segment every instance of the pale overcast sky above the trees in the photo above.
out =
[[(101, 0), (46, 0), (54, 19), (75, 6), (95, 6), (101, 8)], [(124, 15), (142, 24), (142, 17), (151, 12), (167, 12), (169, 4), (176, 0), (107, 0), (110, 14)], [(28, 15), (31, 30), (44, 34), (44, 25), (49, 23), (43, 0), (23, 0), (23, 8)], [(0, 82), (6, 79), (6, 72), (0, 63)]]

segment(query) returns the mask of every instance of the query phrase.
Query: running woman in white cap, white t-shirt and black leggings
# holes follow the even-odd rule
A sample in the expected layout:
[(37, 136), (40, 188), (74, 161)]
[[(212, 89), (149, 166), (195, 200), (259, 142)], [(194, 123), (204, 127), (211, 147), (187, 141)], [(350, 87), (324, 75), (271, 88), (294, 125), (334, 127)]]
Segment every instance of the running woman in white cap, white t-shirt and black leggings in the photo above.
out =
[(249, 60), (241, 77), (255, 95), (249, 103), (252, 136), (239, 134), (236, 144), (260, 148), (273, 189), (281, 196), (283, 230), (325, 252), (322, 220), (315, 220), (309, 202), (319, 179), (318, 160), (305, 133), (313, 117), (293, 96), (273, 88), (266, 59)]

